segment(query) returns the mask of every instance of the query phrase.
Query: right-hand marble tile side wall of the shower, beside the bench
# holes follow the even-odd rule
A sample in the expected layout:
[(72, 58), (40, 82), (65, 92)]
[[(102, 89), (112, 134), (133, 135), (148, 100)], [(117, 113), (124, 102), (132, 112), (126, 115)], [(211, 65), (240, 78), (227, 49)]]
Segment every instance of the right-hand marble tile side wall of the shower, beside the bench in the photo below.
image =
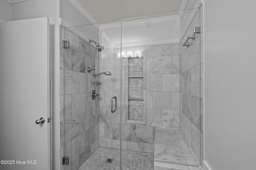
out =
[(180, 43), (180, 131), (198, 164), (202, 164), (203, 152), (202, 32), (196, 34), (195, 41), (189, 41), (189, 47), (182, 47), (182, 44), (186, 37), (193, 35), (193, 28), (201, 25), (200, 13), (198, 10)]

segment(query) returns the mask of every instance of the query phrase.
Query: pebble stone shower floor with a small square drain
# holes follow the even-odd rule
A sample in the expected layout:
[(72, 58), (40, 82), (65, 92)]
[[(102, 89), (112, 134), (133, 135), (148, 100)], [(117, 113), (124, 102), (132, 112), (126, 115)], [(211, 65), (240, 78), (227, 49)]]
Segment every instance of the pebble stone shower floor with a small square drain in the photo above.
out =
[[(120, 149), (98, 147), (79, 170), (120, 170)], [(154, 170), (154, 153), (122, 150), (122, 170)]]

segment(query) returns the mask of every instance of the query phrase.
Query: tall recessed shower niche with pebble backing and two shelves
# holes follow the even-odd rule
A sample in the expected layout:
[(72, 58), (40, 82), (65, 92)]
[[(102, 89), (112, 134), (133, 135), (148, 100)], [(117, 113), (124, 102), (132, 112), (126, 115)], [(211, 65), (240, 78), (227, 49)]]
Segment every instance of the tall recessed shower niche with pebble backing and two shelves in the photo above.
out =
[(126, 76), (126, 123), (146, 124), (146, 55), (123, 58)]

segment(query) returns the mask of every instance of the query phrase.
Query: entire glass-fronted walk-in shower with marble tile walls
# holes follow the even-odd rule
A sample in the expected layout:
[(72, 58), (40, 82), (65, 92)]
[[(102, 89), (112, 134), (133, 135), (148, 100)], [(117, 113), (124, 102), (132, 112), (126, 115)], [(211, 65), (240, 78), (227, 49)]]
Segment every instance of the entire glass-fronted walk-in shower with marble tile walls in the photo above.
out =
[(60, 26), (62, 169), (197, 170), (202, 30), (201, 8)]

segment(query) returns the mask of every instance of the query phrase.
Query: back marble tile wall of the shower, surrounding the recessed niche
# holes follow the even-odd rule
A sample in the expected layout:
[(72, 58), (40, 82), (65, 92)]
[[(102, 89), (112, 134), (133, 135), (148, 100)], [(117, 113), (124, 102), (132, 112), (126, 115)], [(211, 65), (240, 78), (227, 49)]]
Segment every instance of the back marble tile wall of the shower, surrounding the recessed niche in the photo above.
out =
[[(134, 47), (136, 48), (139, 48), (142, 54), (146, 54), (146, 124), (126, 123), (126, 67), (124, 62), (121, 67), (121, 61), (117, 58), (120, 49), (106, 49), (100, 56), (100, 72), (110, 71), (112, 76), (100, 77), (100, 146), (120, 148), (118, 140), (121, 139), (122, 149), (154, 152), (155, 127), (180, 127), (180, 45), (176, 43)], [(134, 67), (130, 68), (140, 68), (138, 65), (142, 65), (139, 61), (132, 64)], [(136, 70), (132, 69), (132, 74), (137, 74)], [(118, 104), (115, 113), (110, 111), (112, 96), (117, 96), (118, 101), (122, 100), (123, 104)], [(137, 109), (141, 110), (140, 107)], [(119, 131), (116, 129), (120, 123), (120, 112), (121, 138), (117, 135)]]

